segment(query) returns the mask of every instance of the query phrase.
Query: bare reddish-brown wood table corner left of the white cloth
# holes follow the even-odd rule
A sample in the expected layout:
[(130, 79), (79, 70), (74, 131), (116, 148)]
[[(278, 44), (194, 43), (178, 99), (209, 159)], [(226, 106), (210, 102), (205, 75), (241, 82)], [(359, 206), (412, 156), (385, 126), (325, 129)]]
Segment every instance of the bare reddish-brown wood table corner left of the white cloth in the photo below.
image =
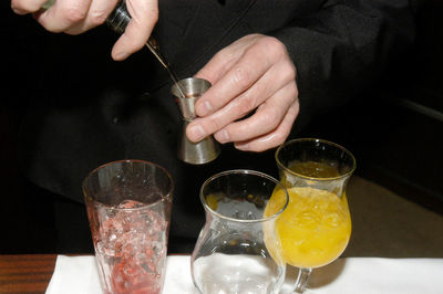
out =
[(0, 293), (44, 293), (56, 254), (0, 255)]

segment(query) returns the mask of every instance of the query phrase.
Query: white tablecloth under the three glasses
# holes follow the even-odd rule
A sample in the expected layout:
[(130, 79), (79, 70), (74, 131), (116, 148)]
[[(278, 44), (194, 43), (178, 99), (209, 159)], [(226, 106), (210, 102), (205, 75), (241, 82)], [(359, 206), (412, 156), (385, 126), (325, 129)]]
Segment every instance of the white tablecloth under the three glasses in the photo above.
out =
[[(297, 270), (289, 267), (281, 293), (289, 293)], [(312, 272), (308, 293), (442, 294), (443, 259), (348, 258)], [(101, 294), (94, 256), (59, 255), (48, 294)], [(198, 294), (189, 256), (169, 255), (164, 294)]]

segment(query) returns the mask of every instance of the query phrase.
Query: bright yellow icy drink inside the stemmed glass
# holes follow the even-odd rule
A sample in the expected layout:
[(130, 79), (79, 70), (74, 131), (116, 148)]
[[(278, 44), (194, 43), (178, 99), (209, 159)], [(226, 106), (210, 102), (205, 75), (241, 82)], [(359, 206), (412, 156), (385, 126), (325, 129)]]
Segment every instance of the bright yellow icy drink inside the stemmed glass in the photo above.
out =
[[(336, 260), (351, 235), (347, 198), (310, 187), (288, 188), (289, 204), (276, 223), (287, 263), (298, 267), (319, 267)], [(265, 214), (280, 208), (285, 195), (270, 198)]]

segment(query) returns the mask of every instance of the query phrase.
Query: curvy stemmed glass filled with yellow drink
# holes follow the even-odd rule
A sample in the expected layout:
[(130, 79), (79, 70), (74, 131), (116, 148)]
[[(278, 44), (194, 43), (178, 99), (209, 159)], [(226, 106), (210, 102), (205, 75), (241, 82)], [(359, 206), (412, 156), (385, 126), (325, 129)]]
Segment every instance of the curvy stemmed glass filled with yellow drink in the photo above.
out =
[(300, 138), (282, 144), (276, 160), (289, 193), (277, 231), (285, 261), (300, 269), (295, 292), (302, 293), (312, 269), (334, 261), (348, 245), (351, 217), (346, 186), (356, 159), (334, 143)]

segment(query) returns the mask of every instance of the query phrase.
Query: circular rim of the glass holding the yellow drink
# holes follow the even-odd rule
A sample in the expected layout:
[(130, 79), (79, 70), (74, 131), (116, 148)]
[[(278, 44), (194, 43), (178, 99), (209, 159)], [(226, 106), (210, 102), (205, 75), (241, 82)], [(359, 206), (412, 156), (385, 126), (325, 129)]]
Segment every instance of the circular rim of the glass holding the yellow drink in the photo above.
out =
[[(287, 147), (287, 146), (289, 146), (289, 145), (291, 145), (291, 144), (293, 144), (293, 143), (300, 143), (300, 141), (320, 141), (320, 143), (322, 143), (322, 144), (332, 146), (332, 147), (334, 147), (334, 148), (338, 148), (338, 149), (344, 151), (344, 153), (346, 153), (347, 155), (349, 155), (349, 157), (352, 159), (352, 167), (351, 167), (351, 169), (350, 169), (348, 172), (346, 172), (346, 174), (343, 174), (343, 175), (340, 175), (340, 176), (337, 176), (337, 177), (322, 177), (322, 178), (309, 177), (309, 176), (306, 176), (306, 175), (302, 175), (302, 174), (299, 174), (299, 172), (296, 172), (296, 171), (289, 169), (288, 167), (286, 167), (286, 166), (280, 161), (280, 159), (278, 158), (278, 155), (280, 154), (280, 151), (281, 151), (282, 148), (285, 148), (285, 147)], [(297, 139), (291, 139), (291, 140), (285, 141), (284, 144), (281, 144), (281, 145), (277, 148), (277, 150), (276, 150), (276, 153), (275, 153), (275, 159), (276, 159), (276, 161), (277, 161), (277, 166), (280, 167), (282, 170), (285, 170), (285, 171), (287, 171), (287, 172), (289, 172), (289, 174), (291, 174), (291, 175), (295, 175), (295, 176), (297, 176), (297, 177), (300, 177), (300, 178), (303, 178), (303, 179), (308, 179), (308, 180), (315, 180), (315, 181), (339, 180), (339, 179), (342, 179), (342, 178), (346, 178), (346, 177), (349, 177), (350, 175), (352, 175), (352, 172), (353, 172), (353, 171), (356, 170), (356, 168), (357, 168), (356, 157), (353, 156), (353, 154), (352, 154), (351, 151), (349, 151), (347, 148), (344, 148), (343, 146), (341, 146), (341, 145), (339, 145), (339, 144), (337, 144), (337, 143), (333, 143), (333, 141), (330, 141), (330, 140), (326, 140), (326, 139), (319, 139), (319, 138), (297, 138)]]

